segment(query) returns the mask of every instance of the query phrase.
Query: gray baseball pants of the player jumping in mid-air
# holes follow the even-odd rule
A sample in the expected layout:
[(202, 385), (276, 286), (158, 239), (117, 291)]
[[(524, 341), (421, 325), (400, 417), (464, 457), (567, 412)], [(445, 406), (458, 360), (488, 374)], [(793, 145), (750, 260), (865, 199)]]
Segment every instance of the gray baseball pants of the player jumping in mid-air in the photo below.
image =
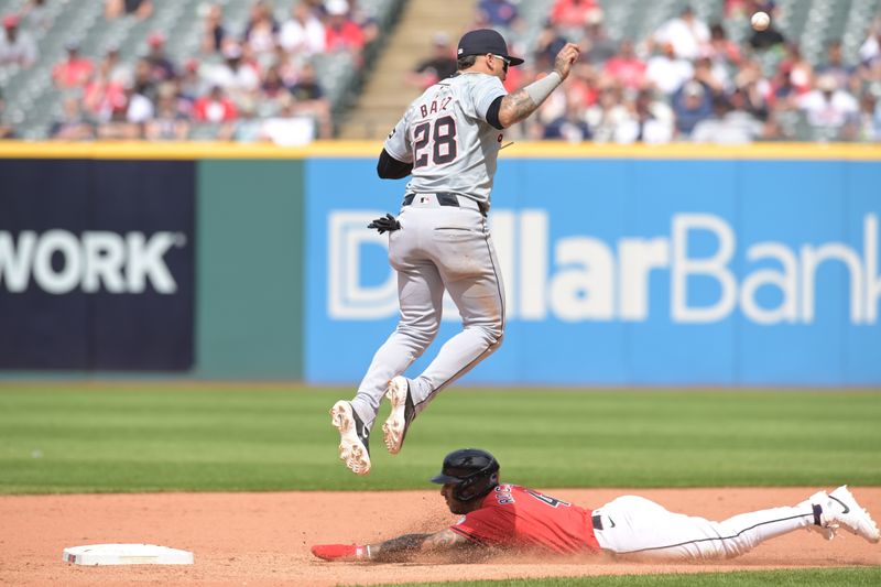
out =
[(417, 194), (398, 217), (401, 229), (389, 236), (401, 319), (377, 350), (352, 400), (368, 427), (389, 380), (402, 374), (437, 335), (444, 291), (461, 315), (463, 330), (410, 381), (416, 413), (502, 343), (504, 287), (487, 219), (475, 200), (458, 196), (457, 202), (459, 206), (442, 206), (434, 195)]

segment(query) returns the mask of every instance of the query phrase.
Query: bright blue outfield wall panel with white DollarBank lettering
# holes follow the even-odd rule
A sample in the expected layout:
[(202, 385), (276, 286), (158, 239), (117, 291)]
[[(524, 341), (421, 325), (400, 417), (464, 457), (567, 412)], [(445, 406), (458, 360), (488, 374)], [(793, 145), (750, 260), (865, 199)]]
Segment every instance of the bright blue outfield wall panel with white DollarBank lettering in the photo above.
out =
[[(309, 382), (357, 383), (396, 324), (387, 237), (366, 225), (405, 182), (374, 166), (306, 162)], [(878, 161), (502, 159), (508, 330), (466, 381), (879, 384), (879, 217)], [(407, 374), (458, 329), (449, 306)]]

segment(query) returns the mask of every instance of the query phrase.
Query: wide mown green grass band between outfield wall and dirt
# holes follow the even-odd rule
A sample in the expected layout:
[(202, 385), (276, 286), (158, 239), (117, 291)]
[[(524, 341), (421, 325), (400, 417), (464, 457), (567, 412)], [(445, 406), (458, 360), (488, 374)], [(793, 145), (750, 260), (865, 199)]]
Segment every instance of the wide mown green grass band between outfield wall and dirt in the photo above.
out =
[(428, 488), (463, 446), (540, 488), (881, 485), (878, 392), (454, 389), (396, 457), (377, 426), (365, 478), (327, 415), (351, 393), (4, 384), (0, 493)]

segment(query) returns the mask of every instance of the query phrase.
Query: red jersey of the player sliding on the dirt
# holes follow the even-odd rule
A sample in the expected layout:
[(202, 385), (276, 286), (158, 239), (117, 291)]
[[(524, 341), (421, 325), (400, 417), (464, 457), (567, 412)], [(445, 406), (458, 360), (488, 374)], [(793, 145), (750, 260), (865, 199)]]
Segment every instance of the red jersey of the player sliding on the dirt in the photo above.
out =
[(590, 510), (516, 485), (498, 486), (450, 530), (487, 546), (600, 551)]

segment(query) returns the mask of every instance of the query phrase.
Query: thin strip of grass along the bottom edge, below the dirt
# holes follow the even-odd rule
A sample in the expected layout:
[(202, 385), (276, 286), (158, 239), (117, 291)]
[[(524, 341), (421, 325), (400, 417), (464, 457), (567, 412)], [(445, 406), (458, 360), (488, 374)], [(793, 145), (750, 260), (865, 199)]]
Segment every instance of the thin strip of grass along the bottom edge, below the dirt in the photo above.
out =
[(859, 587), (881, 585), (881, 567), (807, 568), (800, 570), (748, 570), (670, 575), (617, 575), (601, 577), (556, 577), (545, 579), (476, 580), (467, 583), (410, 583), (395, 587), (766, 587), (823, 585)]

